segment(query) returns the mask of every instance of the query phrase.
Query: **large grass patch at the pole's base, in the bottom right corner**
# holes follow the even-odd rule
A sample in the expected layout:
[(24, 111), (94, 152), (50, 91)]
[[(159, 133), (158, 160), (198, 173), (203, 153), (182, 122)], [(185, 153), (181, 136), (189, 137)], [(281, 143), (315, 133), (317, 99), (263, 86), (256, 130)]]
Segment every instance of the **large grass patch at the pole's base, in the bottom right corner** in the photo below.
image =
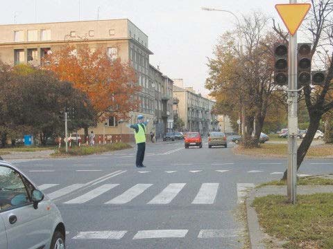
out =
[(333, 248), (333, 193), (298, 195), (296, 205), (286, 196), (269, 195), (253, 206), (269, 235), (289, 241), (284, 248)]

